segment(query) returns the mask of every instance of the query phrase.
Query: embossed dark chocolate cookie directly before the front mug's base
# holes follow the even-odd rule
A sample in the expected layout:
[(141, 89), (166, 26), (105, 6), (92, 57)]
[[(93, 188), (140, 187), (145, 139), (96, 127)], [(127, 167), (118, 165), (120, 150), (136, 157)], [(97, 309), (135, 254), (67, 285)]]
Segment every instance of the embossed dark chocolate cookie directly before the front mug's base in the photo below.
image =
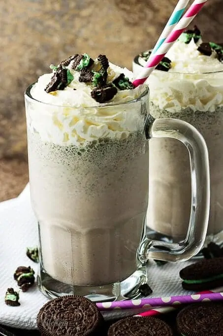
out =
[(104, 320), (94, 302), (67, 295), (44, 304), (36, 323), (41, 336), (99, 336)]

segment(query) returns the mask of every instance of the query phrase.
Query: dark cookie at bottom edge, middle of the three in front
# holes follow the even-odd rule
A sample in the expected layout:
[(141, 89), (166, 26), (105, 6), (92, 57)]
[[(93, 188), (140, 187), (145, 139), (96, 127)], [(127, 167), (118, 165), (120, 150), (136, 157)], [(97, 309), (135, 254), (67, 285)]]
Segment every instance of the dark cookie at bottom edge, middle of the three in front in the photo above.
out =
[(112, 324), (108, 336), (173, 336), (173, 333), (164, 321), (157, 318), (133, 316)]

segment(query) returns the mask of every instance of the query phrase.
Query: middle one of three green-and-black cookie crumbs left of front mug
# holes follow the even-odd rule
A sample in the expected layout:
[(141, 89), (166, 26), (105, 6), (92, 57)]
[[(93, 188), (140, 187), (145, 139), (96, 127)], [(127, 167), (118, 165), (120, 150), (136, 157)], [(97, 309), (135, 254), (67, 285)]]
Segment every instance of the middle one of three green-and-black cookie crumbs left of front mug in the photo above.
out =
[(14, 279), (17, 281), (18, 286), (22, 289), (23, 292), (26, 292), (34, 284), (35, 277), (34, 271), (29, 266), (19, 266), (15, 273)]

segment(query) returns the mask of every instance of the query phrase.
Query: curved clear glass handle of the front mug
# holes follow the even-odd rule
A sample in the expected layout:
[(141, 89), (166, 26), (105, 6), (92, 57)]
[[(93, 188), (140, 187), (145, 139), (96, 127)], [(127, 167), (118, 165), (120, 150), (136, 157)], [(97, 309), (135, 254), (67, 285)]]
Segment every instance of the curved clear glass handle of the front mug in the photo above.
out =
[(141, 263), (145, 263), (148, 258), (185, 261), (199, 252), (207, 233), (210, 207), (207, 145), (195, 127), (178, 119), (154, 119), (149, 115), (145, 121), (144, 131), (147, 139), (174, 138), (187, 147), (191, 168), (191, 215), (187, 236), (182, 242), (166, 243), (150, 240), (143, 232), (138, 258)]

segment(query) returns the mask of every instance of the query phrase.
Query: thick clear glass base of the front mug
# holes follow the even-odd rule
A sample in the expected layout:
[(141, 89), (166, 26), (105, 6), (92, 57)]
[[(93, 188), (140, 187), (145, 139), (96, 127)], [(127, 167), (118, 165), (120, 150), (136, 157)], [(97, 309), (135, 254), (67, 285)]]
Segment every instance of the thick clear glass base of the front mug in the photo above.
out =
[(40, 263), (37, 286), (48, 298), (64, 295), (86, 296), (92, 301), (115, 301), (137, 298), (141, 295), (139, 288), (147, 283), (146, 265), (141, 265), (133, 274), (122, 282), (104, 286), (73, 286), (52, 278)]

